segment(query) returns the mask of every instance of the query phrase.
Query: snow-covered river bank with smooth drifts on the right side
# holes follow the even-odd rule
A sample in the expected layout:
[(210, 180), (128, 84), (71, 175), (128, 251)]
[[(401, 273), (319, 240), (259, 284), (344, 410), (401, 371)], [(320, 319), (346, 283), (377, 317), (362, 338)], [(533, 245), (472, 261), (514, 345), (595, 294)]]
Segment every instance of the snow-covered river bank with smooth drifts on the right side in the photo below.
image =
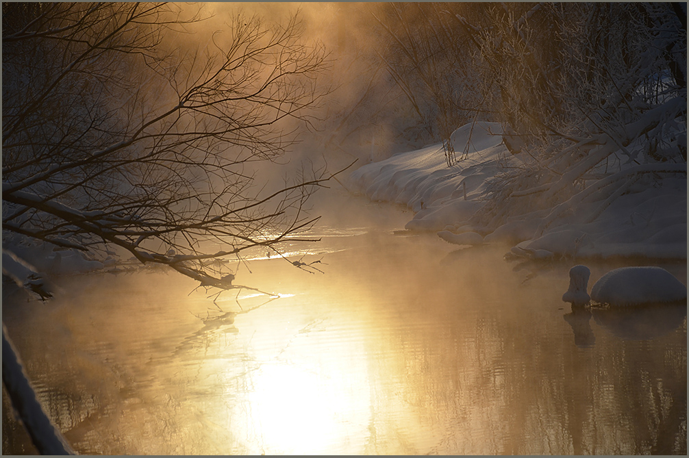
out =
[[(371, 200), (407, 205), (415, 216), (406, 229), (434, 231), (454, 244), (510, 242), (513, 254), (527, 258), (686, 259), (686, 164), (621, 167), (630, 177), (634, 167), (644, 167), (646, 175), (654, 167), (679, 173), (630, 180), (611, 195), (582, 192), (495, 229), (478, 225), (473, 217), (491, 198), (486, 193), (489, 180), (524, 160), (508, 151), (501, 134), (499, 123), (465, 125), (451, 137), (457, 158), (466, 155), (453, 167), (447, 167), (439, 143), (364, 165), (349, 176), (349, 186)], [(586, 185), (597, 189), (606, 179), (612, 178)]]

